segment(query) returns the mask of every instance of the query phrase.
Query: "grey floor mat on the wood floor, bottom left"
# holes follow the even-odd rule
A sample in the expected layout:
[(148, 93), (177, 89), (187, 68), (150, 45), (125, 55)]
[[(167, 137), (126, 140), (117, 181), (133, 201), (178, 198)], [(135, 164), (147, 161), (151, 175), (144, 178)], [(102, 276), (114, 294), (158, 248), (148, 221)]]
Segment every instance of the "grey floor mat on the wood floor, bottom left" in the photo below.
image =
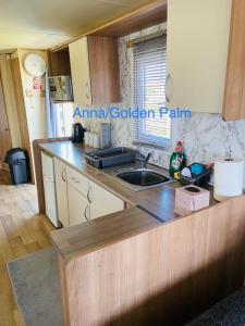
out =
[(56, 250), (45, 249), (10, 261), (8, 267), (25, 325), (64, 325)]

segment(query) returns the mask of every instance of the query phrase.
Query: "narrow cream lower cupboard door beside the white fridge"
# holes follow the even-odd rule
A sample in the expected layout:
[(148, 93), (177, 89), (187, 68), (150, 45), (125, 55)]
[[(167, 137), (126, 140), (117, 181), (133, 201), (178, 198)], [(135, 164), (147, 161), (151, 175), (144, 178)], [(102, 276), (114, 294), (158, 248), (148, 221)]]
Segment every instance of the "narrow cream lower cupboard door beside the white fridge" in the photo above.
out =
[(64, 227), (70, 225), (68, 209), (68, 184), (66, 184), (66, 164), (61, 160), (53, 158), (54, 177), (57, 189), (57, 209), (58, 218)]

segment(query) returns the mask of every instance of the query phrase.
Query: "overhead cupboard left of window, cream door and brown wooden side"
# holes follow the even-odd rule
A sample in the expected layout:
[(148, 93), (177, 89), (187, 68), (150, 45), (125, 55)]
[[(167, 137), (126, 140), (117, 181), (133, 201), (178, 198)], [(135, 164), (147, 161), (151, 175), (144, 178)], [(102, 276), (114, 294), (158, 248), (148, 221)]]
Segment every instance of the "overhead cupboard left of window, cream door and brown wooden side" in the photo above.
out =
[(118, 39), (85, 36), (69, 45), (74, 102), (109, 104), (120, 101)]

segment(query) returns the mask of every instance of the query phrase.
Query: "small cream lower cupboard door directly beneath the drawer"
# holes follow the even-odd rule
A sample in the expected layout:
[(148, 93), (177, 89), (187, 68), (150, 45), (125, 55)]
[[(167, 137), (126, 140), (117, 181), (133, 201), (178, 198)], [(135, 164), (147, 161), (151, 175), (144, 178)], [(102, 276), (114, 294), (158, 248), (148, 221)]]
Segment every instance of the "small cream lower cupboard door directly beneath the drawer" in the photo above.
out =
[(70, 226), (89, 220), (89, 202), (79, 191), (68, 184)]

